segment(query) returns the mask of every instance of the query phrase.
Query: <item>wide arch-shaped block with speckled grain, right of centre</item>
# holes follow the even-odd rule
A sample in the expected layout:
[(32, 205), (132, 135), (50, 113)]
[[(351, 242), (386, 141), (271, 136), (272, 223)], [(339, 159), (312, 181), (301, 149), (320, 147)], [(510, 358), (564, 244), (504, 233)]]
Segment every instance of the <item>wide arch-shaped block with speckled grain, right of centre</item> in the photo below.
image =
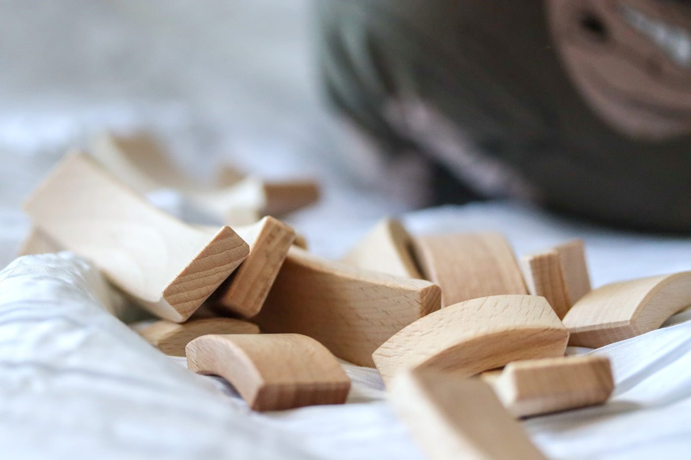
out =
[(389, 338), (372, 358), (387, 384), (410, 368), (471, 376), (519, 359), (564, 356), (568, 339), (545, 298), (490, 296), (420, 318)]

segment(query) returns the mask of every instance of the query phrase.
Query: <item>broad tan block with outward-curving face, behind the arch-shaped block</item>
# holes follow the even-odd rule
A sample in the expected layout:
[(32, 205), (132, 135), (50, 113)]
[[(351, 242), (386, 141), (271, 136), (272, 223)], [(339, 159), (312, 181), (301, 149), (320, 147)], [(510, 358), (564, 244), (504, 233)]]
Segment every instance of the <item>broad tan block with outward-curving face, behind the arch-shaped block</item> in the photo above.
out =
[(500, 294), (528, 294), (509, 243), (499, 233), (413, 238), (425, 279), (442, 288), (442, 306)]

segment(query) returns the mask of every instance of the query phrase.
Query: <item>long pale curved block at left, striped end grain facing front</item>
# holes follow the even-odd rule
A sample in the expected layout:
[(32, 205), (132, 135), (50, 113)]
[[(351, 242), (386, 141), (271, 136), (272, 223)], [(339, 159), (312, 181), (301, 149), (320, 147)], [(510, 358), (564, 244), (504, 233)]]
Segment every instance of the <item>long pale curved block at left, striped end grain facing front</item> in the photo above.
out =
[(137, 303), (176, 322), (189, 318), (249, 253), (230, 227), (215, 234), (190, 227), (79, 153), (56, 166), (24, 209)]

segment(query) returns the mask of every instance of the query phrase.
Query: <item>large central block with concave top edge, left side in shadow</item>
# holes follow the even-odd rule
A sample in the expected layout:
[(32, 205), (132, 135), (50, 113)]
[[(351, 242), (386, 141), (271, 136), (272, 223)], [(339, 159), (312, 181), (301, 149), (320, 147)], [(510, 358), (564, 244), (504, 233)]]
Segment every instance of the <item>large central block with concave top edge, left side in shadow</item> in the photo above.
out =
[(291, 247), (253, 321), (264, 332), (316, 338), (339, 358), (373, 367), (379, 345), (439, 303), (439, 287), (431, 282), (361, 270)]

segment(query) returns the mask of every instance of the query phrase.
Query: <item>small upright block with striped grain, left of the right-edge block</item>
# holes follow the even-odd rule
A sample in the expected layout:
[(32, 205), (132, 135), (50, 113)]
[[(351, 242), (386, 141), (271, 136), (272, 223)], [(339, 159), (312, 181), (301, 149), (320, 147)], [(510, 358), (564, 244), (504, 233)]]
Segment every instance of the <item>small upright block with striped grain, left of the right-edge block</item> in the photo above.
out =
[(559, 318), (590, 291), (582, 240), (522, 256), (520, 267), (530, 293), (545, 297)]

